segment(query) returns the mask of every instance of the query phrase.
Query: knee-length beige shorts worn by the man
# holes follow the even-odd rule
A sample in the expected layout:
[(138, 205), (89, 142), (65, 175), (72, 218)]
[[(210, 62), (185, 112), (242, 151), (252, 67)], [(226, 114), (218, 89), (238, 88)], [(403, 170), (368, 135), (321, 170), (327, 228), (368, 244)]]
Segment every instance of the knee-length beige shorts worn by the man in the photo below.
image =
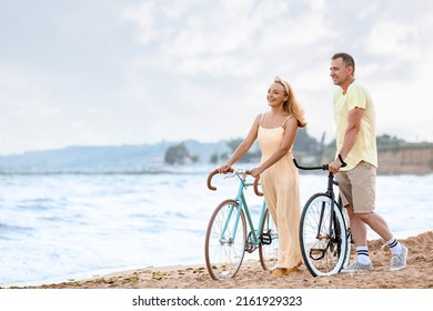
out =
[(355, 213), (374, 212), (376, 198), (376, 168), (361, 161), (355, 168), (335, 174), (343, 205), (351, 204)]

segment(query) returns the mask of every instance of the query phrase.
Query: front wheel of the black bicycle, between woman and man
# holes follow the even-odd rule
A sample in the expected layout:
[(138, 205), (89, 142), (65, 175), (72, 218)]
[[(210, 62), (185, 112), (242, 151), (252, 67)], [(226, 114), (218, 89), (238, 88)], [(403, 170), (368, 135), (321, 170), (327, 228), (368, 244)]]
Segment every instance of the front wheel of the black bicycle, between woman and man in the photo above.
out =
[(338, 203), (332, 204), (325, 193), (314, 194), (305, 203), (300, 242), (302, 258), (313, 277), (340, 272), (348, 251), (346, 227)]

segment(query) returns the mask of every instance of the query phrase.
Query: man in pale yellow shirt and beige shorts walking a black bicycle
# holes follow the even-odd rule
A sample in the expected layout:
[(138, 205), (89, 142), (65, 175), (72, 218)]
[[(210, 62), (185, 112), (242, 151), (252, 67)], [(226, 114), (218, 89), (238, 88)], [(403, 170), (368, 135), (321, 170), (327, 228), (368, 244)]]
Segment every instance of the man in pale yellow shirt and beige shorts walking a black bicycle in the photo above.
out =
[(355, 61), (348, 53), (331, 58), (330, 76), (340, 89), (334, 94), (336, 157), (330, 171), (339, 182), (348, 209), (356, 261), (342, 272), (373, 269), (366, 244), (366, 225), (384, 239), (391, 249), (391, 270), (406, 265), (407, 248), (391, 233), (386, 221), (374, 212), (377, 148), (375, 113), (365, 86), (355, 80)]

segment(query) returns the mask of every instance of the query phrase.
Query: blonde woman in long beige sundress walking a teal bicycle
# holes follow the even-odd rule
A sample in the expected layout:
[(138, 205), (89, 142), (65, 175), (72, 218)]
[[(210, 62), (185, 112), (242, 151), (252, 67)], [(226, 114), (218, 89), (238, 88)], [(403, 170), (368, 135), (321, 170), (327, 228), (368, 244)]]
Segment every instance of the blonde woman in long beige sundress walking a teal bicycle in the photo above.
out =
[(276, 77), (268, 90), (266, 99), (270, 110), (255, 118), (250, 132), (230, 160), (220, 167), (220, 172), (228, 172), (258, 140), (262, 159), (260, 165), (251, 170), (251, 174), (261, 178), (264, 199), (280, 239), (279, 260), (272, 273), (289, 275), (302, 263), (299, 180), (292, 160), (292, 147), (298, 128), (305, 127), (306, 122), (303, 109), (286, 81)]

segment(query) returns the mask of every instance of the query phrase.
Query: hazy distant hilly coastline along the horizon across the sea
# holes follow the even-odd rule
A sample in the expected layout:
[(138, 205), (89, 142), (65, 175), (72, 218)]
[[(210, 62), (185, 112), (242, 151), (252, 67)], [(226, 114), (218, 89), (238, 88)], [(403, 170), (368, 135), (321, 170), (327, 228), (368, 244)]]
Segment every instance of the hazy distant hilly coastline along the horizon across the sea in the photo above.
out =
[[(218, 142), (183, 141), (189, 153), (198, 159), (194, 164), (168, 165), (165, 152), (179, 142), (119, 147), (69, 147), (58, 150), (26, 152), (20, 156), (0, 156), (0, 173), (147, 173), (175, 172), (209, 168), (223, 162), (241, 139)], [(433, 173), (433, 143), (406, 143), (387, 136), (377, 138), (379, 173)], [(335, 154), (335, 143), (318, 142), (306, 131), (300, 131), (293, 148), (302, 163), (326, 163)], [(211, 160), (216, 162), (211, 164)], [(256, 146), (248, 159), (259, 161)], [(225, 158), (224, 158), (225, 157)]]

